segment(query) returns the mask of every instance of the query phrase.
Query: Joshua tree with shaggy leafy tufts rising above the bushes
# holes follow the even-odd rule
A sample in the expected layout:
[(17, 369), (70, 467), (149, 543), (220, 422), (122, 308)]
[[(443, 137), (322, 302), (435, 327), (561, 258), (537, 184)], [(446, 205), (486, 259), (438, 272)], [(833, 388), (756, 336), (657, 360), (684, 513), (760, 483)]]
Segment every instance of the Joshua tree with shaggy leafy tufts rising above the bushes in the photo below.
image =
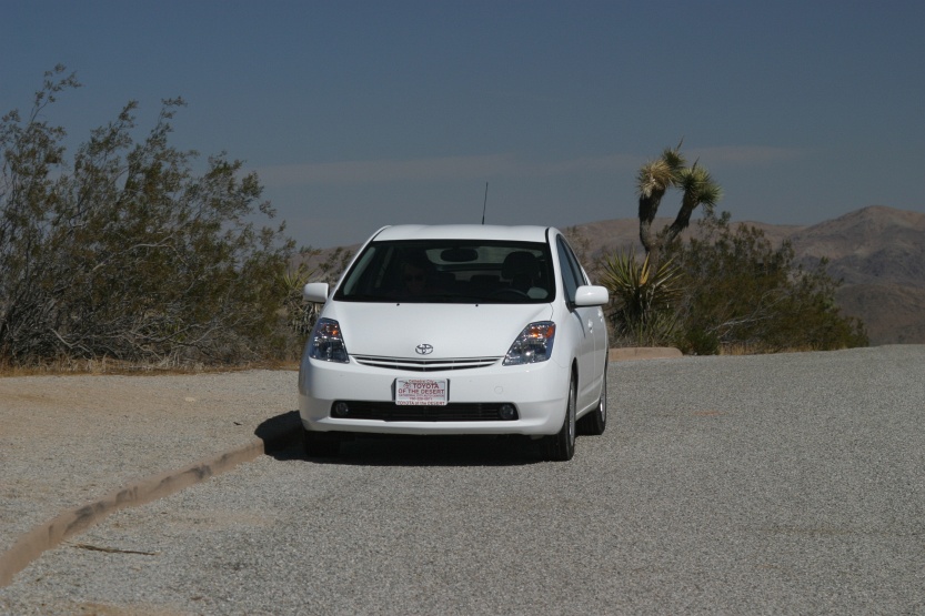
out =
[[(705, 168), (700, 166), (696, 161), (691, 166), (685, 166), (685, 163), (678, 143), (675, 148), (665, 149), (660, 158), (642, 165), (637, 175), (640, 241), (653, 271), (658, 271), (662, 250), (687, 228), (691, 214), (697, 205), (703, 205), (712, 212), (722, 196), (720, 184)], [(653, 231), (652, 223), (658, 212), (658, 205), (670, 188), (682, 191), (681, 210), (672, 224), (658, 232)]]

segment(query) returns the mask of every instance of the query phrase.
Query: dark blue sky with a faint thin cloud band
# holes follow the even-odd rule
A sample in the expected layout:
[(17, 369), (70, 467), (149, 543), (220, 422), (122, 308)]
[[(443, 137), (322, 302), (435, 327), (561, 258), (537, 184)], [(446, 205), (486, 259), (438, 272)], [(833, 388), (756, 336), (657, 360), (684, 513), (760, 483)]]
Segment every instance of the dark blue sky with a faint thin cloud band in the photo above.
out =
[[(0, 0), (0, 112), (44, 71), (76, 142), (140, 103), (257, 170), (300, 244), (636, 214), (684, 139), (734, 220), (925, 213), (925, 2)], [(674, 215), (677, 199), (660, 214)]]

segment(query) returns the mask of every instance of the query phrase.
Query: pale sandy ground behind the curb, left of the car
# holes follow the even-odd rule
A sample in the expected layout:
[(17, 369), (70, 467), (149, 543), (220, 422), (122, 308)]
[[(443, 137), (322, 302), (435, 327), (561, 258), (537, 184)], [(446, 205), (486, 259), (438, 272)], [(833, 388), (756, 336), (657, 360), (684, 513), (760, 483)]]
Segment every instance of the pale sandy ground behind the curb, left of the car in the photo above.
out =
[(0, 553), (134, 479), (243, 445), (291, 414), (296, 373), (0, 378)]

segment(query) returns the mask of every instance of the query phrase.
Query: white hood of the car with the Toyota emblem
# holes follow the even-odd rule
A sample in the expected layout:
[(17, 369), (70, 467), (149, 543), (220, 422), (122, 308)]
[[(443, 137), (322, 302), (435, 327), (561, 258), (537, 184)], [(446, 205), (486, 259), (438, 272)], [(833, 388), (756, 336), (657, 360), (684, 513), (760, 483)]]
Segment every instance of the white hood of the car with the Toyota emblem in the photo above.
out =
[(523, 329), (552, 321), (551, 304), (371, 304), (331, 302), (323, 316), (334, 319), (351, 355), (429, 360), (494, 357), (507, 353)]

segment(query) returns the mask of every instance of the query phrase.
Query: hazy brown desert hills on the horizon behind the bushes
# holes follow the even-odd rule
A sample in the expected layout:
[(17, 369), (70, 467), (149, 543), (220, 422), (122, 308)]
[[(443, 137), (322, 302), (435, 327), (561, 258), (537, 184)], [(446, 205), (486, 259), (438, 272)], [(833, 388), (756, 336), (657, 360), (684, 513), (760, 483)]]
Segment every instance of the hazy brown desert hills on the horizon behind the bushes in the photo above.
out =
[[(658, 229), (670, 223), (656, 221)], [(800, 263), (813, 265), (827, 257), (828, 273), (844, 281), (835, 296), (838, 306), (864, 321), (872, 345), (925, 344), (925, 214), (874, 205), (811, 226), (735, 220), (733, 224), (761, 229), (774, 245), (790, 239)], [(639, 220), (620, 219), (563, 231), (577, 244), (576, 251), (593, 259), (631, 248), (642, 254), (639, 230)], [(334, 250), (322, 251), (309, 264), (320, 263)]]

